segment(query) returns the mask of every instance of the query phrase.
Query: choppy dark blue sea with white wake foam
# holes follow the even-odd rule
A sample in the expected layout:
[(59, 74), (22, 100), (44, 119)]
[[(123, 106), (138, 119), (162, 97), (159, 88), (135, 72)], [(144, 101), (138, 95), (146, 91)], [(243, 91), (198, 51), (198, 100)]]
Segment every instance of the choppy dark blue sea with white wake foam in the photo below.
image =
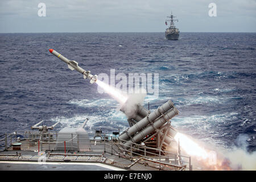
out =
[(172, 100), (181, 133), (218, 146), (256, 150), (256, 34), (163, 33), (0, 34), (0, 135), (30, 129), (44, 120), (112, 133), (129, 125), (117, 102), (68, 69), (53, 48), (93, 74), (159, 73), (159, 97), (150, 110)]

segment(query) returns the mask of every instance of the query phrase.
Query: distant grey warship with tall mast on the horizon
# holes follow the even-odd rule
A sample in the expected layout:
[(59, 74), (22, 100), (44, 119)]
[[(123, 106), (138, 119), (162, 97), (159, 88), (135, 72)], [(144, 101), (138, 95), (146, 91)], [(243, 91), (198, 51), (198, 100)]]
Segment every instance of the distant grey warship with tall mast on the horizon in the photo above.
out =
[(178, 40), (179, 39), (179, 35), (180, 35), (180, 31), (179, 28), (176, 28), (174, 26), (174, 21), (178, 21), (177, 19), (174, 19), (176, 16), (172, 15), (171, 16), (167, 16), (167, 18), (171, 18), (166, 20), (166, 25), (167, 22), (170, 22), (170, 27), (166, 28), (166, 39), (168, 40)]

